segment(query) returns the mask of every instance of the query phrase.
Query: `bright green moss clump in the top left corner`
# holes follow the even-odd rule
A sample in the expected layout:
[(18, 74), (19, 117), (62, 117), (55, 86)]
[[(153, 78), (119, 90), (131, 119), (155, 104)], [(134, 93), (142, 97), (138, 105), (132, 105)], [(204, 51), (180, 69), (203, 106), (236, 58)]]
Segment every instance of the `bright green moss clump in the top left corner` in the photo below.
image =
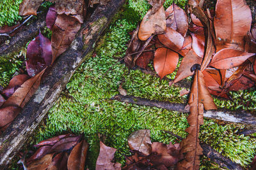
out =
[(13, 25), (17, 20), (20, 20), (19, 4), (22, 0), (1, 0), (0, 1), (0, 27), (7, 24)]

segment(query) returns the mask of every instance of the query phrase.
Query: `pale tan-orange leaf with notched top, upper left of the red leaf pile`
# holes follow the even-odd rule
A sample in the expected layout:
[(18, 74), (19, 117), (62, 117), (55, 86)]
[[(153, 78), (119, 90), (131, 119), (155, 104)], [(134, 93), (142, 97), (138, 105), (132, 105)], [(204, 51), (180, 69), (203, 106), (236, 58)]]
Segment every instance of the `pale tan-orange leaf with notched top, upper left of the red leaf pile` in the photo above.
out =
[(161, 6), (159, 10), (152, 14), (151, 10), (148, 10), (147, 14), (143, 18), (140, 24), (138, 37), (141, 41), (147, 40), (152, 34), (161, 34), (166, 30), (166, 20), (164, 7)]

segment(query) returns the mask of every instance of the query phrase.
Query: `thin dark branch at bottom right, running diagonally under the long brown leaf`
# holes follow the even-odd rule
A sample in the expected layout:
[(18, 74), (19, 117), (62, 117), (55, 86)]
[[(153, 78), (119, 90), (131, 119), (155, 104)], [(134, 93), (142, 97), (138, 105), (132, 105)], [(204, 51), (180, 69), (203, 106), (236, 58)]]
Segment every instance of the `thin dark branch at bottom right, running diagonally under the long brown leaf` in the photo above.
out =
[[(172, 136), (174, 136), (179, 140), (183, 139), (179, 135), (173, 134), (173, 132), (170, 132), (170, 131), (164, 131), (164, 132), (171, 134)], [(227, 167), (228, 169), (243, 169), (243, 167), (241, 167), (239, 164), (236, 164), (235, 162), (228, 159), (227, 157), (224, 157), (223, 155), (221, 155), (221, 153), (214, 150), (211, 146), (206, 145), (204, 143), (200, 143), (200, 146), (203, 149), (203, 154), (205, 155), (205, 157), (208, 157), (213, 162), (216, 162), (217, 164), (219, 164), (221, 167)]]

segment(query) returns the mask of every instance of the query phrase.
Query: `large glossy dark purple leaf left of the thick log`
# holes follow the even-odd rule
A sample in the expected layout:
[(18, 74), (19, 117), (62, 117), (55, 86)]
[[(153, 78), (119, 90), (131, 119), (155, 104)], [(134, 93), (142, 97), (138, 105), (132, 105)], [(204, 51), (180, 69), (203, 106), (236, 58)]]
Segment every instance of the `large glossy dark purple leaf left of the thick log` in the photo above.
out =
[(52, 62), (51, 41), (41, 32), (28, 45), (26, 68), (29, 76), (35, 76)]

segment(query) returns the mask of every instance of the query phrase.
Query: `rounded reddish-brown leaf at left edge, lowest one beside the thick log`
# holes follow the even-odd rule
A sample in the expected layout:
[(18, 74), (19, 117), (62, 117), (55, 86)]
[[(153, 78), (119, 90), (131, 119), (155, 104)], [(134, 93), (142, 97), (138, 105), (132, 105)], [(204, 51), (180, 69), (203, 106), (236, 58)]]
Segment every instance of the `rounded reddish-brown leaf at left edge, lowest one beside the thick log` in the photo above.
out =
[(9, 124), (20, 113), (20, 107), (7, 106), (0, 109), (0, 128)]

